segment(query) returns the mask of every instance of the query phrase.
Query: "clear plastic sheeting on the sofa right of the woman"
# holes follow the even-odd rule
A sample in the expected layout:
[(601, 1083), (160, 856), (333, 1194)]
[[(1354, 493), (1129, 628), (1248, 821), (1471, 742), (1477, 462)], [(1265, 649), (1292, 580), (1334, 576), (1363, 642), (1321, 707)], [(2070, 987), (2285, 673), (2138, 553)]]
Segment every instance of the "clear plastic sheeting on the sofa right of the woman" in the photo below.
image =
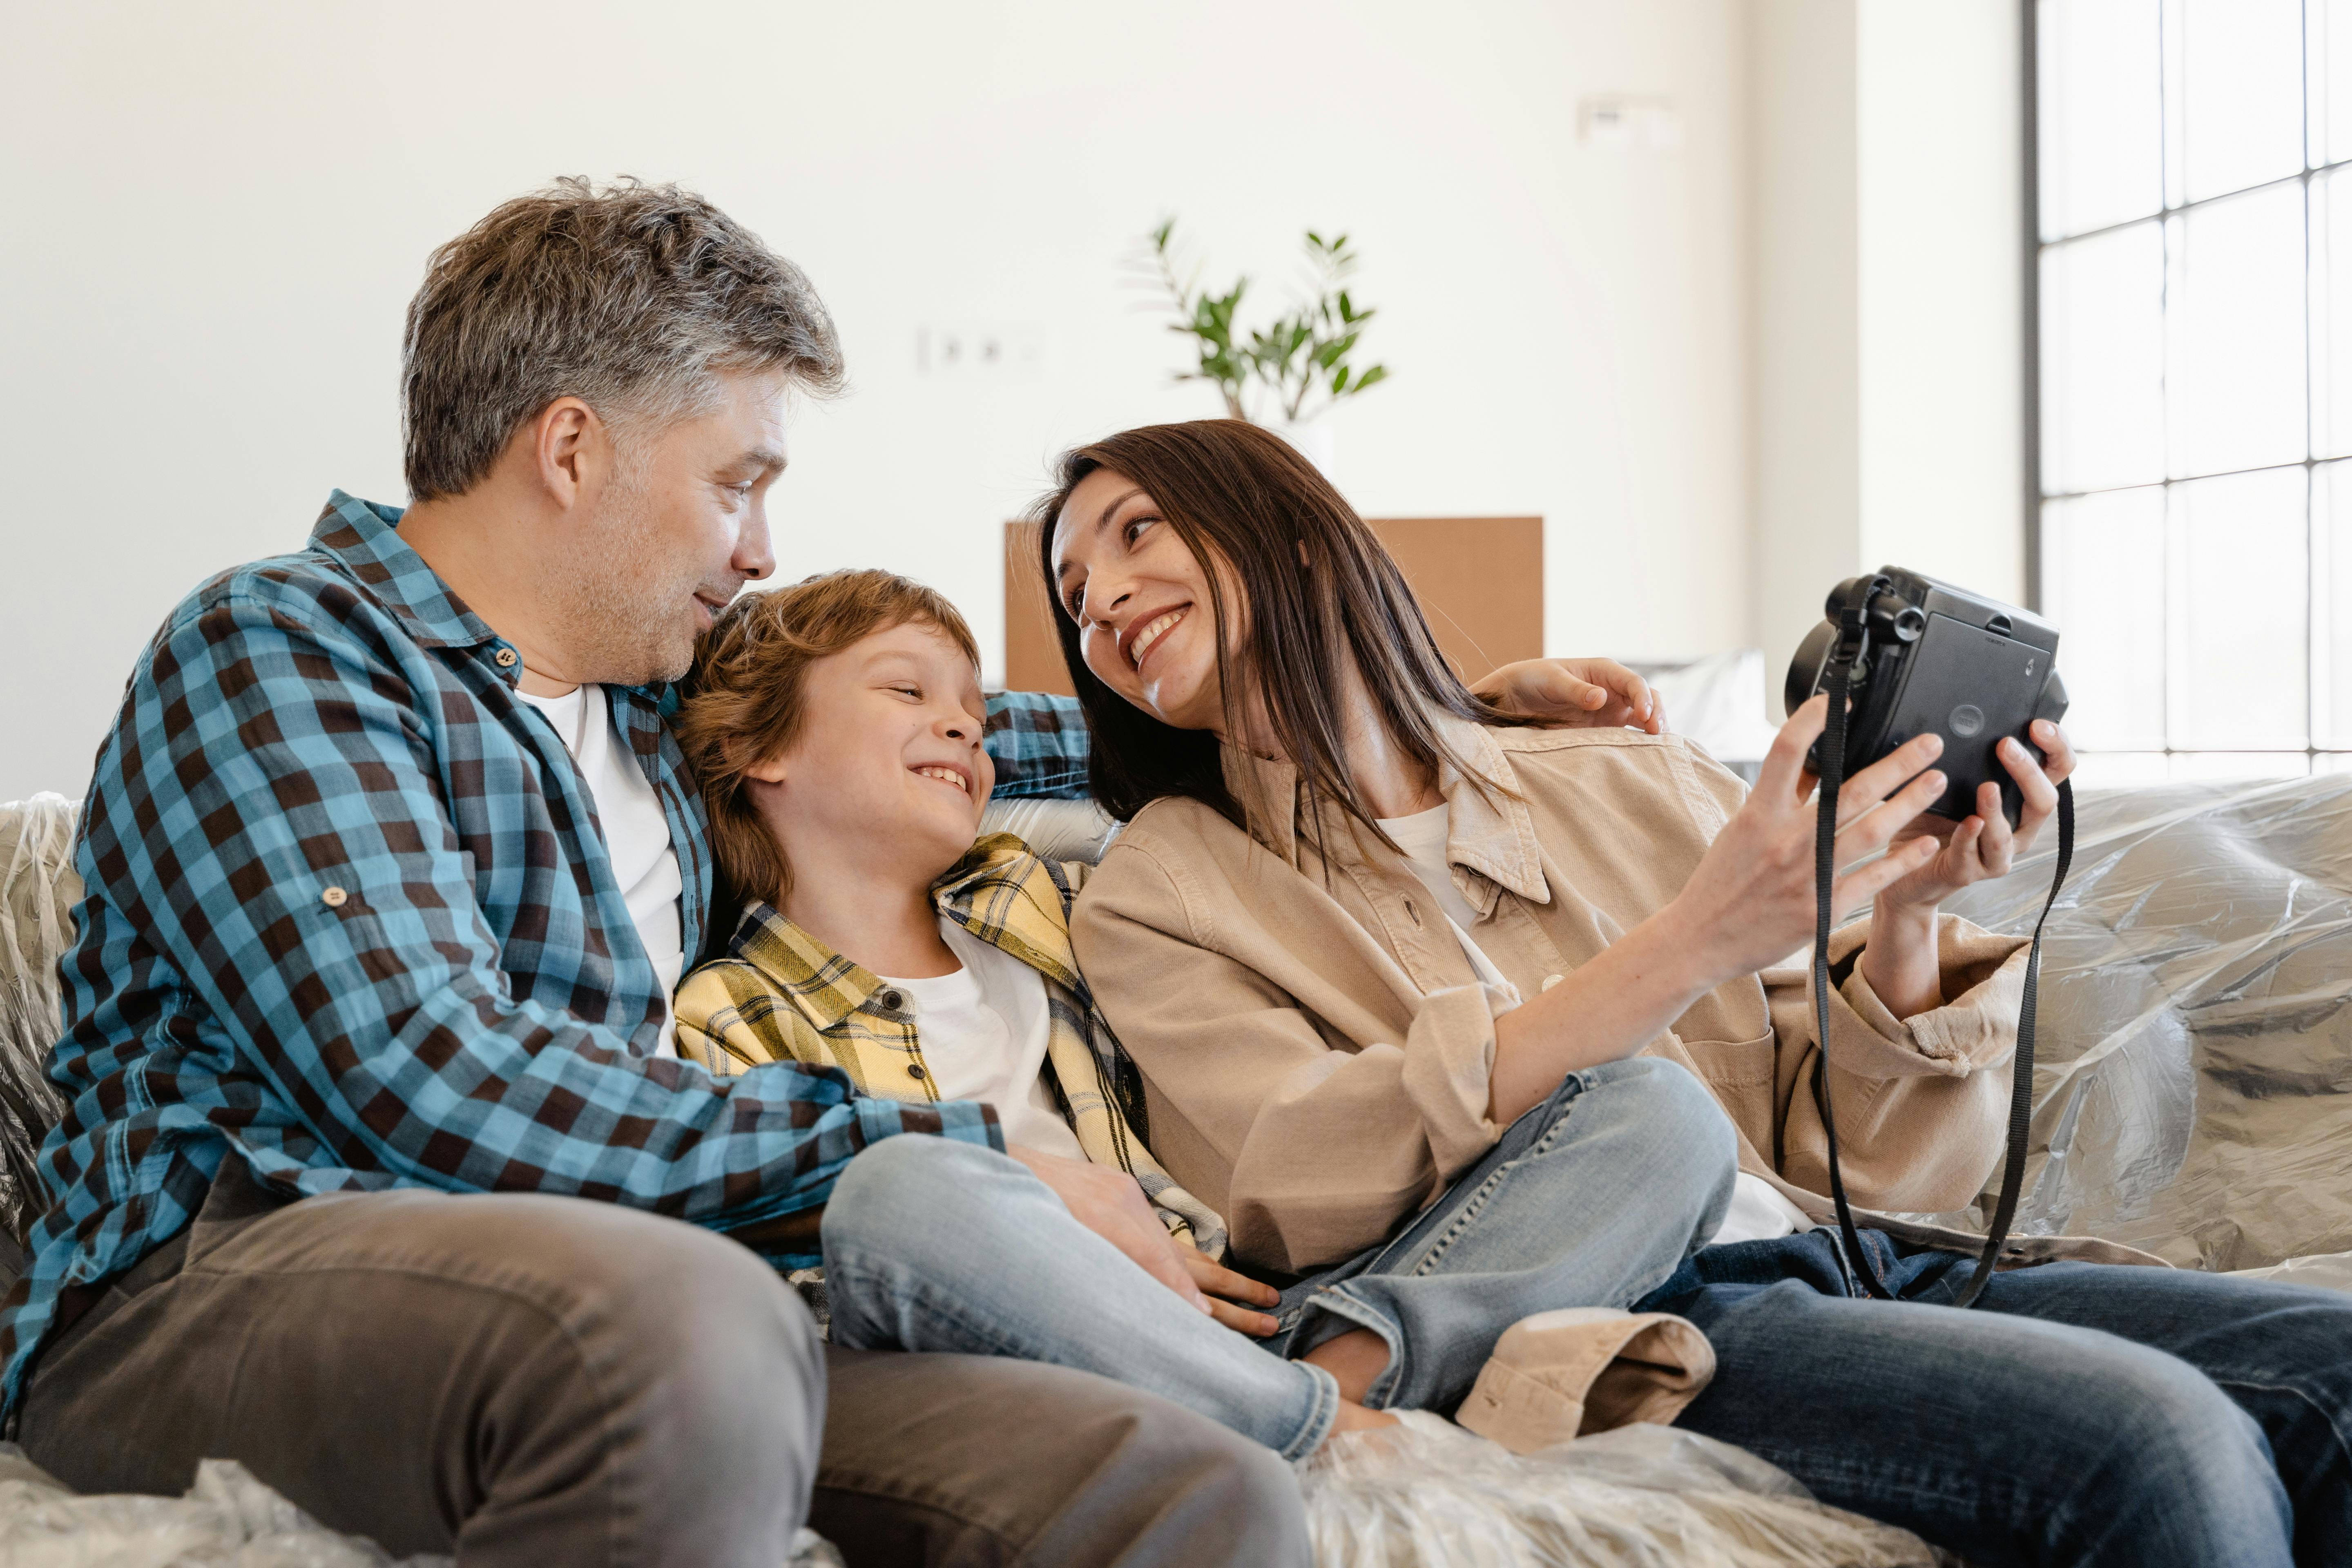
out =
[[(1945, 907), (2027, 933), (2056, 839)], [(2347, 1001), (2352, 776), (2082, 797), (2016, 1229), (2197, 1269), (2352, 1248)]]

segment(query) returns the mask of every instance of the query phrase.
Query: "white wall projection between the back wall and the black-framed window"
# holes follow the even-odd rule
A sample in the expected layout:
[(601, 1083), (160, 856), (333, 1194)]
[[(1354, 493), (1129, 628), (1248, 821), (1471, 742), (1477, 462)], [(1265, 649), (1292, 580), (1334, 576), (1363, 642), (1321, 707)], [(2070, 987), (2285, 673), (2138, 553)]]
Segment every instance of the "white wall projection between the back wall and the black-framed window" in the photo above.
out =
[(2011, 0), (1748, 14), (1750, 611), (1776, 677), (1856, 571), (2025, 595), (2018, 92)]

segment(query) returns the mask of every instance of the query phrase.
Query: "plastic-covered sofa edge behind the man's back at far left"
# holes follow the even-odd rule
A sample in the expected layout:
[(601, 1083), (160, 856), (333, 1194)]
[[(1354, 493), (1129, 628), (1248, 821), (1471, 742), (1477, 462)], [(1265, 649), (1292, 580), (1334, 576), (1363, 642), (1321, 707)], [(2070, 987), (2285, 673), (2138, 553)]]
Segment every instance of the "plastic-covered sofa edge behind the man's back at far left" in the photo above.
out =
[[(0, 1232), (21, 1239), (47, 1208), (33, 1154), (66, 1114), (42, 1077), (56, 1044), (56, 954), (73, 936), (82, 879), (73, 875), (73, 813), (64, 795), (0, 806)], [(12, 1258), (0, 1258), (0, 1265)]]

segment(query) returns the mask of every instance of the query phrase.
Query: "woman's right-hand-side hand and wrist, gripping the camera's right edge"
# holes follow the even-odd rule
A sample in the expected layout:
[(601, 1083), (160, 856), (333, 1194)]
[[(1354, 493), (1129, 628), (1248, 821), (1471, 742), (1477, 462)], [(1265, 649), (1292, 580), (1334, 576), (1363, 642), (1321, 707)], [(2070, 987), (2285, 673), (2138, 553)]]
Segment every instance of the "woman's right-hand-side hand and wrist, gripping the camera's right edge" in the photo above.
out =
[(1969, 886), (2006, 877), (2018, 856), (2034, 846), (2042, 825), (2058, 811), (2058, 783), (2074, 771), (2074, 748), (2049, 719), (2034, 719), (2034, 745), (2002, 741), (2002, 766), (2018, 780), (2025, 809), (2016, 830), (2002, 813), (2002, 788), (1985, 783), (1976, 792), (1976, 816), (1955, 823), (1922, 816), (1903, 827), (1898, 846), (1917, 851), (1938, 844), (1924, 865), (1879, 889), (1870, 910), (1870, 945), (1863, 950), (1863, 980), (1896, 1018), (1943, 1006), (1943, 966), (1936, 959), (1936, 905)]

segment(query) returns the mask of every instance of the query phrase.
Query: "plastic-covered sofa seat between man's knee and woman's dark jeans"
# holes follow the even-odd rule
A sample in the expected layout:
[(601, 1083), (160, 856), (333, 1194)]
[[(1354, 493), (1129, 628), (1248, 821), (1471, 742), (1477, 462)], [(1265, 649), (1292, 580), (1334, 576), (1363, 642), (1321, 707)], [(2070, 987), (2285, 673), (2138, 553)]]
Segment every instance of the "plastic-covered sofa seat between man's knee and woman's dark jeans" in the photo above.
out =
[(1319, 1568), (1926, 1568), (1917, 1535), (1813, 1502), (1764, 1460), (1672, 1427), (1531, 1455), (1411, 1413), (1301, 1465)]

